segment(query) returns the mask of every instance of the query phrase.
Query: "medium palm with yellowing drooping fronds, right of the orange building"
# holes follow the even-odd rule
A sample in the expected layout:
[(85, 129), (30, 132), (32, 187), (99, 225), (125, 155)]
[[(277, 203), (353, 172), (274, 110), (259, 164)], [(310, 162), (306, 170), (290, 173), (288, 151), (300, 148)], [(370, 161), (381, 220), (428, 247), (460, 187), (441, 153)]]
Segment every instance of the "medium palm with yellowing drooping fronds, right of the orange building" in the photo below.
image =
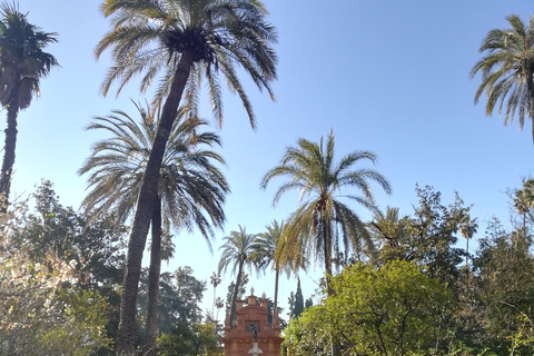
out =
[[(261, 181), (261, 187), (266, 188), (274, 178), (289, 178), (289, 181), (276, 191), (274, 205), (285, 192), (300, 190), (300, 207), (291, 214), (287, 222), (277, 248), (277, 259), (285, 264), (300, 255), (303, 249), (312, 250), (316, 260), (322, 258), (325, 264), (329, 295), (333, 293), (329, 287), (332, 256), (339, 251), (339, 243), (345, 246), (345, 256), (348, 255), (349, 247), (357, 246), (360, 239), (367, 243), (369, 248), (373, 245), (365, 224), (338, 198), (345, 197), (368, 209), (375, 209), (368, 180), (378, 182), (386, 194), (392, 191), (389, 182), (376, 170), (350, 170), (360, 160), (376, 162), (377, 158), (368, 151), (354, 151), (335, 164), (334, 134), (330, 131), (326, 149), (323, 147), (323, 138), (319, 144), (300, 138), (298, 146), (287, 148), (280, 165), (270, 169)], [(364, 196), (339, 195), (343, 188), (349, 187), (357, 188)], [(303, 201), (305, 198), (307, 199)]]

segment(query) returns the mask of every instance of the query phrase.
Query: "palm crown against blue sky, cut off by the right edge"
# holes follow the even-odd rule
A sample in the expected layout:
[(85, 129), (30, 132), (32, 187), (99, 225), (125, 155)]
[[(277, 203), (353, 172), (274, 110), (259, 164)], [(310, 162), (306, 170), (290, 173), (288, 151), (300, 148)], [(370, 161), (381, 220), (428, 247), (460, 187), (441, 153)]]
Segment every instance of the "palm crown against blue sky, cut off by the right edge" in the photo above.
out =
[[(504, 123), (513, 122), (515, 112), (520, 128), (525, 125), (525, 113), (534, 118), (534, 14), (525, 26), (517, 14), (506, 18), (511, 28), (491, 30), (481, 52), (487, 52), (471, 70), (471, 77), (481, 71), (482, 83), (475, 95), (475, 103), (485, 91), (486, 115), (491, 116), (498, 103), (498, 115), (506, 106)], [(534, 142), (534, 125), (532, 127)]]

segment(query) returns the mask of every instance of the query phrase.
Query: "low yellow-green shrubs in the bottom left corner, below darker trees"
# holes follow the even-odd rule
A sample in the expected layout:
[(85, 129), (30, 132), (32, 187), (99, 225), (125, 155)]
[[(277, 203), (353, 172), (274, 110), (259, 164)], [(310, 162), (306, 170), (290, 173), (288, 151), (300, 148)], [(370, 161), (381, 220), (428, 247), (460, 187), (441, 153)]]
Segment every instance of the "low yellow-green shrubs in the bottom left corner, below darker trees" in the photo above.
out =
[[(49, 298), (42, 299), (42, 293)], [(50, 295), (49, 290), (33, 289), (33, 294), (41, 299), (31, 304), (21, 299), (13, 305), (13, 319), (0, 328), (0, 349), (4, 347), (8, 355), (85, 356), (109, 345), (109, 306), (97, 291), (68, 288)]]

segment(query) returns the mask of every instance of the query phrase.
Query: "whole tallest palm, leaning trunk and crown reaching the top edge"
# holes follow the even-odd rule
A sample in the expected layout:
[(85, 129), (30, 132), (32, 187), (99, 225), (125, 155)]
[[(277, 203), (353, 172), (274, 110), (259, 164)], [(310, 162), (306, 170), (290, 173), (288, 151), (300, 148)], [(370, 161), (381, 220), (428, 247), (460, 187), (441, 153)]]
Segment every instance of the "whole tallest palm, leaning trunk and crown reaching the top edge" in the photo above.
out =
[(276, 79), (277, 58), (270, 44), (276, 42), (277, 34), (258, 0), (106, 0), (101, 11), (112, 17), (112, 29), (98, 43), (96, 56), (111, 47), (115, 60), (103, 81), (103, 93), (113, 82), (119, 83), (120, 91), (134, 76), (144, 72), (141, 90), (159, 78), (155, 100), (165, 102), (128, 244), (118, 344), (119, 354), (129, 355), (136, 337), (142, 250), (156, 200), (154, 187), (182, 95), (186, 113), (196, 116), (201, 79), (206, 77), (211, 108), (220, 123), (220, 72), (230, 91), (239, 95), (255, 127), (253, 107), (237, 77), (237, 67), (274, 98), (270, 82)]

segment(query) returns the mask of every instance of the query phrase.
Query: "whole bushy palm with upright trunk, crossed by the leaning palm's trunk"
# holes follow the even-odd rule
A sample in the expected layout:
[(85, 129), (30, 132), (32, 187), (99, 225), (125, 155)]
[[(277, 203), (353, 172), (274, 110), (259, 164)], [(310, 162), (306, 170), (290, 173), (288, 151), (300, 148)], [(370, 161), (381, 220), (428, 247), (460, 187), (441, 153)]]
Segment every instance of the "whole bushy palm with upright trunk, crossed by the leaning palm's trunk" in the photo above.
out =
[[(115, 110), (108, 117), (96, 118), (88, 127), (89, 130), (106, 130), (111, 137), (93, 145), (91, 156), (79, 170), (80, 175), (90, 174), (90, 191), (82, 201), (87, 215), (115, 211), (118, 221), (123, 222), (136, 208), (158, 123), (150, 108), (144, 109), (140, 105), (136, 105), (136, 108), (141, 118), (140, 125), (126, 112)], [(178, 116), (181, 116), (181, 111)], [(224, 164), (224, 160), (216, 152), (201, 148), (220, 145), (220, 141), (215, 134), (199, 134), (204, 125), (206, 122), (198, 119), (176, 119), (160, 168), (158, 194), (151, 214), (146, 338), (149, 354), (154, 354), (157, 337), (162, 211), (176, 229), (191, 231), (197, 227), (210, 249), (212, 226), (221, 227), (225, 221), (222, 205), (229, 188), (222, 174), (211, 164)]]

